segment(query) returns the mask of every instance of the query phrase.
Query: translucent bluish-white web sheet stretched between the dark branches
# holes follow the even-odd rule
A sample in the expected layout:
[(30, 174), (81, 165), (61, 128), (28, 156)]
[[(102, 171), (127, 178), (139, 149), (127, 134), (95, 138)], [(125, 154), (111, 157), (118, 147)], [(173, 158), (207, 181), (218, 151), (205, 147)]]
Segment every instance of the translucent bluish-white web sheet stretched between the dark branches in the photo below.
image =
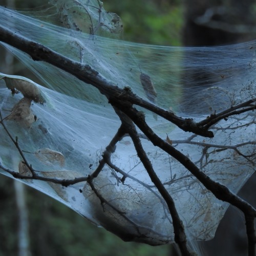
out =
[[(161, 47), (68, 30), (5, 8), (0, 8), (0, 20), (13, 32), (90, 65), (113, 85), (130, 87), (144, 100), (195, 121), (255, 98), (255, 41), (212, 48)], [(17, 138), (28, 163), (38, 175), (48, 178), (91, 175), (121, 124), (108, 100), (90, 84), (2, 45), (40, 79), (39, 85), (23, 77), (0, 77), (2, 123), (14, 141)], [(219, 121), (210, 129), (214, 138), (204, 138), (136, 108), (145, 113), (159, 137), (233, 193), (254, 172), (255, 112)], [(31, 175), (3, 125), (0, 133), (0, 171), (9, 175), (4, 170), (9, 168)], [(175, 201), (188, 238), (212, 238), (228, 205), (216, 199), (180, 162), (141, 137), (155, 172)], [(95, 190), (85, 181), (67, 187), (22, 181), (125, 241), (174, 242), (168, 208), (129, 136), (117, 142), (111, 163), (93, 180)]]

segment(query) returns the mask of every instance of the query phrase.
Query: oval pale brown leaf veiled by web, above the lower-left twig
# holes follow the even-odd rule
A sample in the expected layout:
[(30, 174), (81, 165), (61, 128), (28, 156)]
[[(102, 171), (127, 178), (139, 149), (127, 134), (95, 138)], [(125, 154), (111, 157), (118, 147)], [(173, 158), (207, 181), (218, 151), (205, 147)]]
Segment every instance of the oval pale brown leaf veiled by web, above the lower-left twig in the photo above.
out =
[(41, 162), (47, 165), (65, 165), (65, 157), (60, 152), (50, 150), (50, 148), (40, 148), (40, 150), (35, 152), (35, 155)]

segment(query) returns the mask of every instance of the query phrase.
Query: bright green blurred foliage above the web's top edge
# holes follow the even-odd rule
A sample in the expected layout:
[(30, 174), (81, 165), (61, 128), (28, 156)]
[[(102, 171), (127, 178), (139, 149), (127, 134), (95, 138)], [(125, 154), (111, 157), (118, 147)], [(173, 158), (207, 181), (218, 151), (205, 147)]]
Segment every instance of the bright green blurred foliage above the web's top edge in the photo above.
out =
[(155, 45), (181, 45), (183, 5), (180, 1), (105, 1), (104, 8), (123, 20), (123, 39)]

